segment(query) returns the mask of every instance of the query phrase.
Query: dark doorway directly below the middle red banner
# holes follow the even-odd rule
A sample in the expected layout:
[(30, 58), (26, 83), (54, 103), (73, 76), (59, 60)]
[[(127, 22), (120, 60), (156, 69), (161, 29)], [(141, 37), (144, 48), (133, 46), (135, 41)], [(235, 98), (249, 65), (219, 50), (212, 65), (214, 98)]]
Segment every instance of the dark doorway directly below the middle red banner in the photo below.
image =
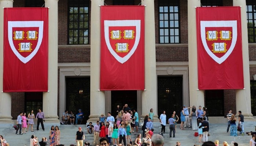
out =
[(111, 91), (111, 113), (116, 118), (117, 112), (116, 107), (117, 105), (122, 107), (124, 104), (128, 104), (128, 107), (133, 109), (137, 109), (137, 91), (136, 90), (129, 90), (129, 91)]

